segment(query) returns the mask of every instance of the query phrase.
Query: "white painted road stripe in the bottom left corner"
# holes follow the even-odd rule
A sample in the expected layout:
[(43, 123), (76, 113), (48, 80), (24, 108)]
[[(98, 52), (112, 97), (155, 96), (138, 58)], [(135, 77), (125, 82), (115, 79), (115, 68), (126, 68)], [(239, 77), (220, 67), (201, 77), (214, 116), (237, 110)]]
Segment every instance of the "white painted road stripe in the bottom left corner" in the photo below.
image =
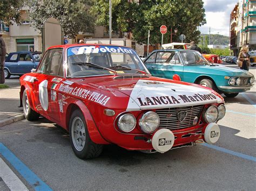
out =
[(5, 164), (2, 158), (0, 158), (0, 177), (3, 179), (6, 186), (10, 190), (28, 190), (24, 183), (19, 180), (18, 176)]

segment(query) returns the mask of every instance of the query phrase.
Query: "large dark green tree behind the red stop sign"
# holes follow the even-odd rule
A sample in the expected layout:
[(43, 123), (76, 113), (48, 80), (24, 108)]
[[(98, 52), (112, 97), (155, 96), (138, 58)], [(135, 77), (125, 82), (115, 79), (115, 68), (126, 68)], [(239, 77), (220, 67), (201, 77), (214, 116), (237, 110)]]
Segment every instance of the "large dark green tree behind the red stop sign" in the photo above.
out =
[[(94, 0), (91, 12), (97, 17), (96, 24), (109, 25), (109, 1)], [(179, 41), (180, 34), (185, 34), (187, 42), (198, 42), (198, 26), (206, 23), (202, 0), (141, 0), (140, 3), (127, 0), (112, 0), (112, 28), (122, 32), (132, 32), (138, 43), (147, 43), (147, 32), (151, 30), (150, 42), (161, 41), (159, 27), (166, 25), (168, 32), (164, 43), (170, 42), (171, 27), (178, 29), (173, 41)]]

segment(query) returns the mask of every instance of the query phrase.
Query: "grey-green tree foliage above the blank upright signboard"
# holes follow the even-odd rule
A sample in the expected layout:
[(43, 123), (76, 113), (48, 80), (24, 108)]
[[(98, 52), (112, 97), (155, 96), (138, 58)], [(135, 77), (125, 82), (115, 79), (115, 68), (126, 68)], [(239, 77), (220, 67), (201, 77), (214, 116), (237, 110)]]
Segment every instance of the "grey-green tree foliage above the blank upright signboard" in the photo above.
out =
[(41, 31), (44, 21), (53, 17), (62, 24), (65, 36), (73, 38), (78, 32), (93, 32), (94, 18), (84, 2), (90, 1), (28, 0), (31, 25)]

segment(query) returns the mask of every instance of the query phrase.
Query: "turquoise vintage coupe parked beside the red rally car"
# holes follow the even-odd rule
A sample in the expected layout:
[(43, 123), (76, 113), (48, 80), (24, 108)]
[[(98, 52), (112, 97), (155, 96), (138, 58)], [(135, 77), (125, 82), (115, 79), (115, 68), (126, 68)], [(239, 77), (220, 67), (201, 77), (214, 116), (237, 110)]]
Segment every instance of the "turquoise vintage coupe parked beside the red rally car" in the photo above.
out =
[(182, 81), (201, 84), (227, 97), (250, 90), (254, 82), (250, 72), (209, 63), (192, 50), (157, 50), (144, 62), (153, 76), (172, 79), (174, 74), (178, 74)]

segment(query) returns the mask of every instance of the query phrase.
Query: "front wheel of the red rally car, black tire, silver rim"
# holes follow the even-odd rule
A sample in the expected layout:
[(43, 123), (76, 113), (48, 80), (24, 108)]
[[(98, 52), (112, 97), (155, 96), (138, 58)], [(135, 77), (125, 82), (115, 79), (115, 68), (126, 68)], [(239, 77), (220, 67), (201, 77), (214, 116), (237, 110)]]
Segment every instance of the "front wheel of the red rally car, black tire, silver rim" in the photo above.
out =
[(69, 121), (69, 137), (73, 152), (80, 159), (96, 158), (103, 151), (103, 145), (92, 142), (84, 115), (78, 109), (72, 112)]

